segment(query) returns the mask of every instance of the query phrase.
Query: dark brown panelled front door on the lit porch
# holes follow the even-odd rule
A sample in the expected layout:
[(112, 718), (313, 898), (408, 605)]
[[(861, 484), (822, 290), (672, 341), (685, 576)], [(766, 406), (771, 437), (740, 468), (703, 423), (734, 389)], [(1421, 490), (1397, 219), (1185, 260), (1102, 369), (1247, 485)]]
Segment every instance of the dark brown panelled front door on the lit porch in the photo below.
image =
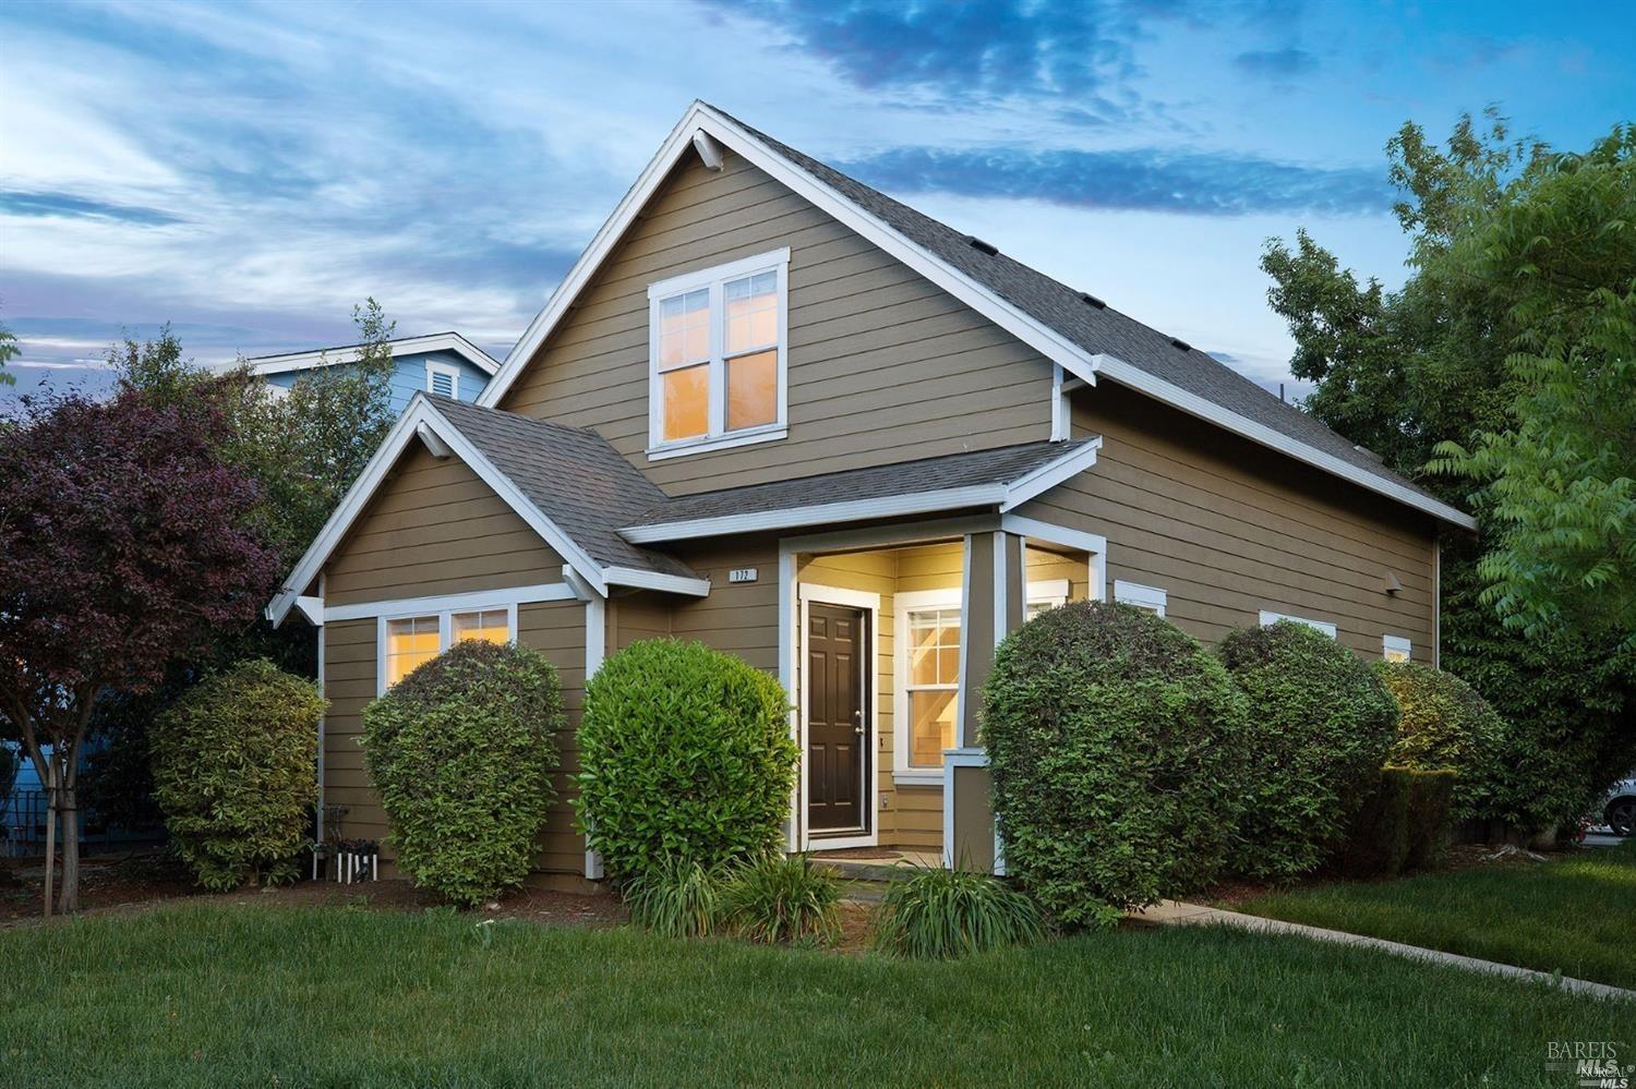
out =
[(869, 685), (862, 608), (807, 607), (807, 827), (867, 832)]

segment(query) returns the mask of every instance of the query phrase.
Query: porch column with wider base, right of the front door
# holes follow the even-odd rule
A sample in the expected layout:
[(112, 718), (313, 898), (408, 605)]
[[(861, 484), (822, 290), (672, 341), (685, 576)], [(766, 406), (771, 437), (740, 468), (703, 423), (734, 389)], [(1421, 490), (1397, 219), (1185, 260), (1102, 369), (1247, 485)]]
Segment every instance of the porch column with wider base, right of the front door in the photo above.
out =
[(957, 747), (944, 754), (944, 865), (1005, 872), (988, 801), (988, 754), (982, 747), (978, 723), (982, 687), (995, 667), (995, 648), (1022, 625), (1026, 580), (1021, 536), (998, 530), (965, 536)]

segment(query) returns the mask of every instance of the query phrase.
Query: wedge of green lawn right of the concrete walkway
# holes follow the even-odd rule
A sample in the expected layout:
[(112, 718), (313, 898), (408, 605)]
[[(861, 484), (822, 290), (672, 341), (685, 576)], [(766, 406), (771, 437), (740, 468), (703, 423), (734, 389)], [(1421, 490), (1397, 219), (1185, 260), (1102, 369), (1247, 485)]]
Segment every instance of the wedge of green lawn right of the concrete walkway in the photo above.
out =
[(1276, 893), (1238, 911), (1636, 988), (1636, 840), (1554, 862)]

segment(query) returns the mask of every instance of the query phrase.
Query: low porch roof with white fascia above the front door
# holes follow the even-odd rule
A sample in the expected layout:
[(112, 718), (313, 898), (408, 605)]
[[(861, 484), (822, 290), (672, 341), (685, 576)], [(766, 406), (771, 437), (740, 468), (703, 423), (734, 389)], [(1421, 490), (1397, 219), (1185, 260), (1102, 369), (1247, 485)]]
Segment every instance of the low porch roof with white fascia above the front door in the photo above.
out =
[(1101, 438), (1042, 440), (677, 495), (643, 512), (622, 535), (681, 541), (969, 507), (1008, 512), (1096, 464), (1101, 445)]

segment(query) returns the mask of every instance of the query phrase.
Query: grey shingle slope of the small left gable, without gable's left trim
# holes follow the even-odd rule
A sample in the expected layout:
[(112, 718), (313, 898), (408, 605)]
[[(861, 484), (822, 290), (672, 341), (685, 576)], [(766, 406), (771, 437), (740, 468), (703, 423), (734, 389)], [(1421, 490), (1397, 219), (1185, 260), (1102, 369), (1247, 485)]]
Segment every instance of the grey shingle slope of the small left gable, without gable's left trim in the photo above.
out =
[(664, 502), (659, 487), (596, 432), (430, 396), (434, 407), (517, 491), (604, 567), (697, 577), (687, 564), (618, 535)]

